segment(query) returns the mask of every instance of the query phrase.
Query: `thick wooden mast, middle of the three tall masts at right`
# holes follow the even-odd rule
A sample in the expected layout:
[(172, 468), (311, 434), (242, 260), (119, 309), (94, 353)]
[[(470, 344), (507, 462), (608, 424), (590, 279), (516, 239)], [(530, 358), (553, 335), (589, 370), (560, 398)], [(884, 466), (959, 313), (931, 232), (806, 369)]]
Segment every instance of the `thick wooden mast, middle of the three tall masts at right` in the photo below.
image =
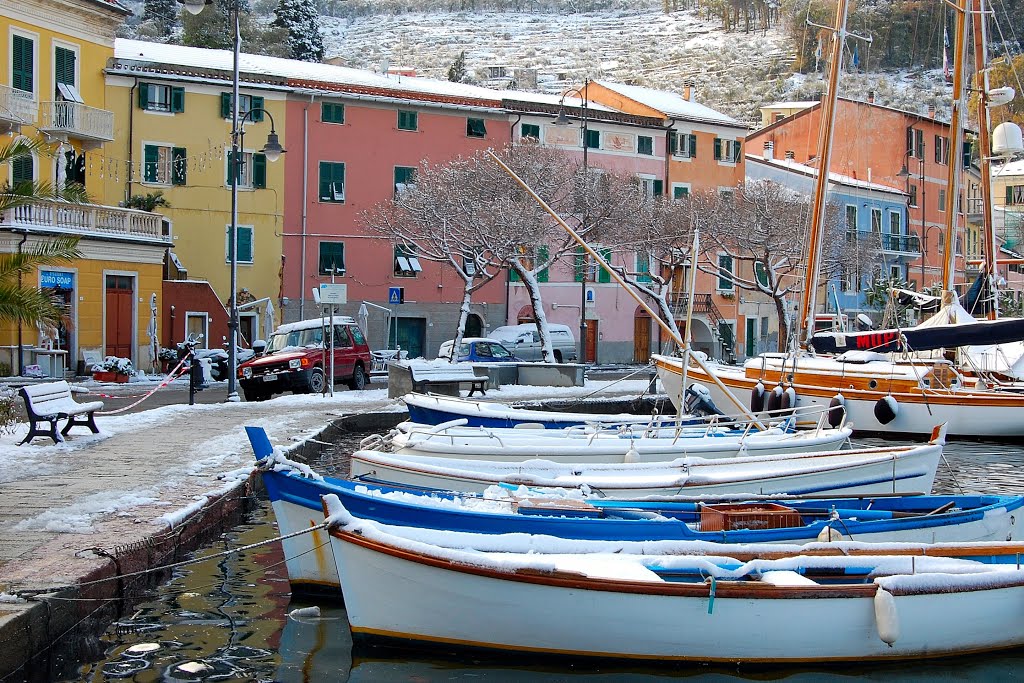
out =
[(964, 72), (967, 54), (967, 3), (956, 4), (956, 24), (953, 45), (952, 117), (949, 121), (949, 177), (946, 178), (945, 259), (942, 261), (942, 305), (953, 300), (953, 272), (956, 264), (956, 227), (959, 217), (959, 190), (964, 174), (964, 117), (967, 110), (967, 91)]

